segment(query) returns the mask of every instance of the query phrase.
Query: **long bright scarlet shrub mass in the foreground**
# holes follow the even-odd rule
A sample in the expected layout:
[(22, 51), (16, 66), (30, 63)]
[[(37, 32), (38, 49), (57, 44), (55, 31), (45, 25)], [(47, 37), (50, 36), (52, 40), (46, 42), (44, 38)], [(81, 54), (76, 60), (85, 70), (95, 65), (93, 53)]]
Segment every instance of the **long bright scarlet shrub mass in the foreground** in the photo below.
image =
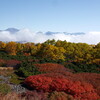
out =
[(71, 81), (65, 78), (48, 77), (46, 74), (29, 76), (25, 79), (25, 84), (33, 89), (45, 92), (64, 91), (81, 100), (84, 94), (86, 94), (84, 100), (96, 100), (99, 98), (91, 84)]

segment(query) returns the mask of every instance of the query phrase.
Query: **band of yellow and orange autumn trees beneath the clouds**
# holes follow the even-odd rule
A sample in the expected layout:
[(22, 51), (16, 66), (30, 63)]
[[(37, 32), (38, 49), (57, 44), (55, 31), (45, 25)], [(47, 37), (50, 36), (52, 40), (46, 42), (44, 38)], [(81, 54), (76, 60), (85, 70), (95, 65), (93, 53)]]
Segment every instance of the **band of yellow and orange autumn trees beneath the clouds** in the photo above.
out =
[(44, 43), (16, 43), (0, 41), (0, 52), (7, 55), (25, 55), (37, 58), (76, 61), (100, 64), (100, 43), (71, 43), (67, 41), (47, 40)]

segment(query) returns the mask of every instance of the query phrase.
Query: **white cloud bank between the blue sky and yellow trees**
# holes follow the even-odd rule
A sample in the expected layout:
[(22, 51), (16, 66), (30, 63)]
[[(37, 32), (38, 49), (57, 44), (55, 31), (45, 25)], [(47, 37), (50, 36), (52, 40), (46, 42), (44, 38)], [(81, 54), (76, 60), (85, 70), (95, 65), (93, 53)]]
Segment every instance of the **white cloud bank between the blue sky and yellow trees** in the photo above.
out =
[[(53, 32), (54, 33), (54, 32)], [(42, 43), (48, 39), (66, 40), (68, 42), (82, 42), (88, 44), (97, 44), (100, 42), (100, 32), (88, 32), (85, 34), (75, 35), (73, 33), (65, 34), (55, 33), (47, 35), (45, 32), (32, 32), (29, 29), (21, 29), (15, 33), (10, 31), (0, 31), (0, 41), (26, 41), (34, 43)]]

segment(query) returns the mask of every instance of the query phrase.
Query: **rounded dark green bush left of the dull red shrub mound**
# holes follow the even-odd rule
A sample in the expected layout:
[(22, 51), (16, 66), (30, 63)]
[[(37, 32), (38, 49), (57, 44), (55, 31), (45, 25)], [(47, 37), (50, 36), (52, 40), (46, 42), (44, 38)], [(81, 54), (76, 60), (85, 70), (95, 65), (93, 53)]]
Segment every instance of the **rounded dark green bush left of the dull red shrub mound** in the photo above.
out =
[(17, 70), (17, 73), (23, 77), (41, 74), (41, 72), (38, 71), (38, 68), (35, 67), (32, 62), (28, 62), (28, 61), (22, 62), (21, 64), (19, 64), (19, 68)]

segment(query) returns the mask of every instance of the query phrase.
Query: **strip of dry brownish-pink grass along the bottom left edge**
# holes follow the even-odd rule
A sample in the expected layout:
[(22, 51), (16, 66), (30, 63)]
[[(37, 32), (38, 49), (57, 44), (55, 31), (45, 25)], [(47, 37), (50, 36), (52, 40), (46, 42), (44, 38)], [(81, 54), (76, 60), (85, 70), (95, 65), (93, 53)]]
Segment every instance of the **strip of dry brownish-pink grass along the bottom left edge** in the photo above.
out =
[(0, 100), (48, 100), (46, 93), (27, 92), (24, 94), (8, 93), (7, 95), (0, 94)]

